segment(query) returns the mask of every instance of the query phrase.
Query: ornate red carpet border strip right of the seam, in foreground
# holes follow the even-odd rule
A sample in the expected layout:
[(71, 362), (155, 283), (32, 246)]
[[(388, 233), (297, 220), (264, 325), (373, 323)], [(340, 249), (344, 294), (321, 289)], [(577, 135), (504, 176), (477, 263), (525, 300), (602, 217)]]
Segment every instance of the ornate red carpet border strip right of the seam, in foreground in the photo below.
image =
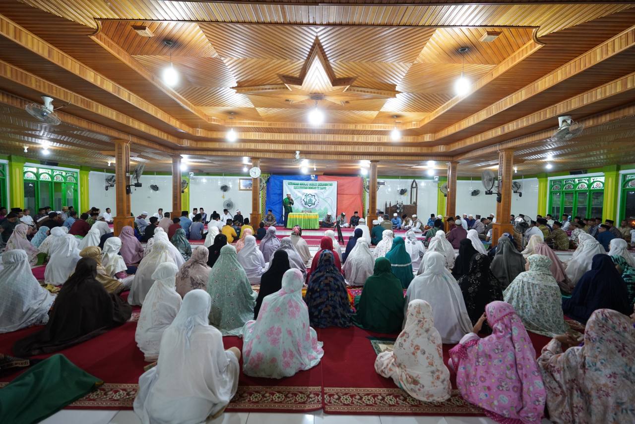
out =
[(483, 409), (452, 390), (445, 402), (422, 402), (400, 388), (324, 387), (324, 412), (329, 414), (483, 415)]

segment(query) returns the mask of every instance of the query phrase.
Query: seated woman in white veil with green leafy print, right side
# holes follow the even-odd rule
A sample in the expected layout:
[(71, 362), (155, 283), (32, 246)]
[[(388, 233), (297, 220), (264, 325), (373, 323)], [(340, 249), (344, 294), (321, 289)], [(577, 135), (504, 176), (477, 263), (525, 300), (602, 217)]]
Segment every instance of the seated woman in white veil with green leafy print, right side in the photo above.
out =
[(551, 259), (543, 255), (527, 258), (529, 270), (521, 272), (503, 293), (505, 301), (514, 307), (525, 329), (553, 337), (566, 333), (562, 313), (562, 298), (558, 283), (551, 274)]

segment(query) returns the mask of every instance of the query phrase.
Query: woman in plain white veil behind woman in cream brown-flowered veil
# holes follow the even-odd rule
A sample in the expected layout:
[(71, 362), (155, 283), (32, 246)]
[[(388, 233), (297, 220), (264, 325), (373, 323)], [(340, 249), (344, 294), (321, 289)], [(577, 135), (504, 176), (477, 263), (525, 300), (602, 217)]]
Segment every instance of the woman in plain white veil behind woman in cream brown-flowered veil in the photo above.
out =
[[(405, 317), (408, 316), (408, 304), (415, 299), (434, 305), (434, 326), (439, 330), (443, 343), (458, 343), (472, 331), (472, 322), (465, 308), (461, 288), (445, 267), (445, 258), (441, 253), (428, 251), (425, 254), (424, 273), (417, 275), (406, 291)], [(406, 319), (404, 324), (405, 321)]]

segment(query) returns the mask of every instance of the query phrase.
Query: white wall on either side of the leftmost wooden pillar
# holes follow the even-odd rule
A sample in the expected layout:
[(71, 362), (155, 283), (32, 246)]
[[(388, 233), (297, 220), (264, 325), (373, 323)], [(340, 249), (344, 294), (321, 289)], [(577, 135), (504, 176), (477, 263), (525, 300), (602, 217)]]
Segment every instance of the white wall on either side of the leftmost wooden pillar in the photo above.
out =
[[(117, 206), (115, 201), (115, 188), (110, 187), (105, 190), (105, 178), (108, 175), (103, 172), (91, 171), (88, 174), (88, 198), (90, 206), (105, 210), (110, 208), (112, 215), (117, 214)], [(137, 216), (143, 211), (153, 215), (157, 209), (163, 208), (168, 212), (172, 209), (172, 177), (170, 175), (152, 175), (144, 174), (140, 178), (142, 187), (131, 187), (130, 209), (133, 215)], [(118, 184), (119, 182), (117, 182)], [(150, 185), (157, 185), (158, 191), (152, 191)]]

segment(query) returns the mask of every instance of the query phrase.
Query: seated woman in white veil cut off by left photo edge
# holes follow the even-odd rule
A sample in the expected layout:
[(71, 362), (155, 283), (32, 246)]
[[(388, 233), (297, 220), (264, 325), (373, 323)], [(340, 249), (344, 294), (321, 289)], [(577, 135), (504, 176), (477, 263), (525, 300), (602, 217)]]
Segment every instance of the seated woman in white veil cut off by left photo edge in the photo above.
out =
[(48, 322), (48, 310), (55, 296), (37, 282), (29, 256), (22, 249), (2, 255), (0, 270), (0, 333)]

